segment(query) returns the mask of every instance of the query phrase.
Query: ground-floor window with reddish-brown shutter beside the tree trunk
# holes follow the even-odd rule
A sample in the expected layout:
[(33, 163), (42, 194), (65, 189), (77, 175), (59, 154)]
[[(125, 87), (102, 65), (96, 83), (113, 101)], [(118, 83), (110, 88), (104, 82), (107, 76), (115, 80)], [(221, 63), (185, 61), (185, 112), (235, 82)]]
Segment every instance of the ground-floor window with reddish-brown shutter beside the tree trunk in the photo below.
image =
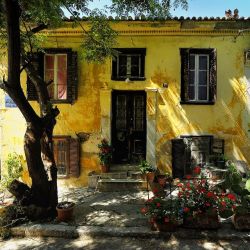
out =
[(53, 137), (53, 151), (58, 177), (79, 177), (79, 141), (70, 136)]

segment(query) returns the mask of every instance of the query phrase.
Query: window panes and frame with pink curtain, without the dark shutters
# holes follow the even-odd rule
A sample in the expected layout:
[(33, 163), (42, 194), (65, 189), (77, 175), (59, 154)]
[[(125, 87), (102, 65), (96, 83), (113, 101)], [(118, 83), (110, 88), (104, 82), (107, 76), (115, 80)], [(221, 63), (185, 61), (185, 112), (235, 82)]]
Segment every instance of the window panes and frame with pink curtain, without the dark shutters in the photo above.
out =
[(44, 55), (44, 79), (53, 81), (48, 86), (51, 99), (67, 99), (67, 54)]

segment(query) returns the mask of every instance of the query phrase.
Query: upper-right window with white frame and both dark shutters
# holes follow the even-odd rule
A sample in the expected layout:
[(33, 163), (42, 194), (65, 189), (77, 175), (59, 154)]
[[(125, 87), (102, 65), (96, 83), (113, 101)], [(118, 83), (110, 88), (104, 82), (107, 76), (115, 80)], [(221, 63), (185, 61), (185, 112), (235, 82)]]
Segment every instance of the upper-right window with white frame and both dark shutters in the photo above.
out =
[(181, 49), (181, 103), (213, 104), (216, 95), (215, 49)]

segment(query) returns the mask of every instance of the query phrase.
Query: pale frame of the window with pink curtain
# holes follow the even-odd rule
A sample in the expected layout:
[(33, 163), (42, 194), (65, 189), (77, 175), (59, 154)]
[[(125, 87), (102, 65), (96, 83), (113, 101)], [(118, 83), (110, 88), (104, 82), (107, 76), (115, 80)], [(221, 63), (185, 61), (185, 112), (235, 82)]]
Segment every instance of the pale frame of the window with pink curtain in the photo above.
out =
[[(44, 55), (44, 59), (46, 56), (53, 56), (54, 57), (54, 81), (53, 81), (53, 87), (54, 87), (54, 96), (53, 100), (67, 100), (68, 99), (68, 91), (66, 93), (66, 99), (59, 99), (58, 98), (58, 80), (57, 80), (57, 74), (55, 72), (58, 71), (58, 56), (66, 56), (66, 72), (68, 72), (68, 55), (67, 53), (46, 53)], [(44, 79), (46, 77), (46, 60), (44, 60)], [(68, 80), (68, 75), (67, 75)], [(68, 81), (66, 80), (66, 86), (68, 87)]]

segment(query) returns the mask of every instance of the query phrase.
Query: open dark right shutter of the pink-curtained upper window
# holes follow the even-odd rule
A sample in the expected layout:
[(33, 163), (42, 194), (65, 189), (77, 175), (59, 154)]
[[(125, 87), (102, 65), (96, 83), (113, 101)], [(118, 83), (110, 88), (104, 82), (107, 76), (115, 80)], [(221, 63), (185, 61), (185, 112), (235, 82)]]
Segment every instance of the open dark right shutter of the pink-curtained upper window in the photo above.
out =
[(74, 103), (77, 99), (77, 85), (78, 85), (78, 69), (77, 69), (77, 52), (69, 51), (68, 56), (68, 74), (67, 74), (67, 88), (68, 88), (68, 101)]

